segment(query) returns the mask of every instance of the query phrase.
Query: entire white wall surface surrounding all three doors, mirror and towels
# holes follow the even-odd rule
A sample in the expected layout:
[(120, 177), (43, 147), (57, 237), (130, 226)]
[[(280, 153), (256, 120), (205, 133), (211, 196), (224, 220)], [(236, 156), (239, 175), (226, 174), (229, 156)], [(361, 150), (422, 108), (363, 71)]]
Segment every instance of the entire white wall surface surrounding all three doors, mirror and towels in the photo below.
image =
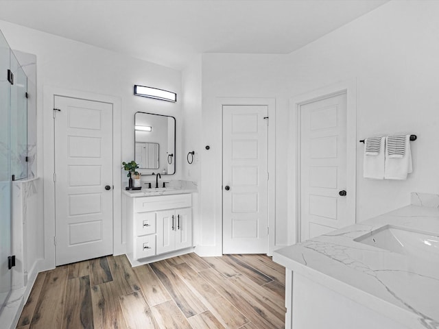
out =
[[(287, 203), (294, 202), (287, 198), (287, 175), (295, 169), (294, 164), (287, 163), (288, 102), (294, 95), (356, 77), (357, 139), (375, 134), (418, 135), (418, 141), (412, 143), (414, 173), (403, 182), (364, 180), (361, 177), (364, 145), (358, 143), (357, 221), (408, 204), (411, 191), (439, 192), (438, 14), (436, 1), (390, 1), (292, 54), (204, 54), (182, 74), (4, 21), (0, 21), (0, 29), (13, 49), (37, 56), (39, 143), (43, 129), (41, 93), (45, 85), (120, 97), (123, 160), (134, 156), (134, 112), (176, 117), (177, 136), (182, 136), (179, 123), (184, 121), (184, 138), (177, 137), (178, 162), (173, 179), (200, 182), (202, 222), (198, 236), (201, 245), (211, 245), (214, 241), (217, 250), (221, 232), (215, 232), (215, 227), (222, 221), (217, 215), (221, 213), (218, 210), (222, 202), (214, 196), (218, 195), (215, 189), (220, 188), (222, 176), (217, 97), (276, 99), (278, 247), (288, 243), (287, 222), (294, 221), (287, 214)], [(179, 95), (183, 84), (185, 105), (181, 109), (180, 102), (134, 97), (133, 84), (172, 90)], [(181, 139), (185, 140), (184, 145)], [(210, 145), (211, 150), (206, 151), (205, 145)], [(189, 166), (185, 157), (192, 150), (198, 153), (200, 162)], [(42, 161), (39, 157), (39, 175)]]

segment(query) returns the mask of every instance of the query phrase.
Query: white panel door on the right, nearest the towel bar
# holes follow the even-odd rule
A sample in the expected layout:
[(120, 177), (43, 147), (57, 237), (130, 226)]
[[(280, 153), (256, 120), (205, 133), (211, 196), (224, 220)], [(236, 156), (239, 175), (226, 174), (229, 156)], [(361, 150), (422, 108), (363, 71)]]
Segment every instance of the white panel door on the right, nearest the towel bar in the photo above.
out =
[(355, 218), (347, 216), (347, 198), (340, 195), (346, 191), (346, 93), (306, 103), (299, 111), (300, 241), (305, 241)]

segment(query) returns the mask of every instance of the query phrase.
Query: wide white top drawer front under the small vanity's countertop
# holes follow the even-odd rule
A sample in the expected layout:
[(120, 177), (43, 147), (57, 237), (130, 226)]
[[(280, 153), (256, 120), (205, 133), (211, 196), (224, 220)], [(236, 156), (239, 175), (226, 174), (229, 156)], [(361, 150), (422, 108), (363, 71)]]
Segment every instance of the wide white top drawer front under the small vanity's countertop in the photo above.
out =
[(192, 206), (192, 195), (158, 195), (154, 197), (137, 197), (134, 201), (134, 212), (189, 208)]

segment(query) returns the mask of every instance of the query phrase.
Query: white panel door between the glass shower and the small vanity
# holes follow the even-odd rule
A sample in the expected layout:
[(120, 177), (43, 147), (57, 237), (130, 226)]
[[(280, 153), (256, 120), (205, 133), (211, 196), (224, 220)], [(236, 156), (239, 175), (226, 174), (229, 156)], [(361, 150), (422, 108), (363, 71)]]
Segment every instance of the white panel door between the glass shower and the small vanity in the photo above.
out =
[(56, 96), (55, 108), (56, 265), (62, 265), (112, 254), (112, 105)]

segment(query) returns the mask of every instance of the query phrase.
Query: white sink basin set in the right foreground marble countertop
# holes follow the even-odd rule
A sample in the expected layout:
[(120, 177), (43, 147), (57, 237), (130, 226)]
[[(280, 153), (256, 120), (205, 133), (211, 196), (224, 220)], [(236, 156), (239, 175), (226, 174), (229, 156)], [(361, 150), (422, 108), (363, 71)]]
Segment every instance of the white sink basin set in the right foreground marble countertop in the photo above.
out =
[(354, 241), (430, 261), (439, 259), (439, 234), (386, 225)]

